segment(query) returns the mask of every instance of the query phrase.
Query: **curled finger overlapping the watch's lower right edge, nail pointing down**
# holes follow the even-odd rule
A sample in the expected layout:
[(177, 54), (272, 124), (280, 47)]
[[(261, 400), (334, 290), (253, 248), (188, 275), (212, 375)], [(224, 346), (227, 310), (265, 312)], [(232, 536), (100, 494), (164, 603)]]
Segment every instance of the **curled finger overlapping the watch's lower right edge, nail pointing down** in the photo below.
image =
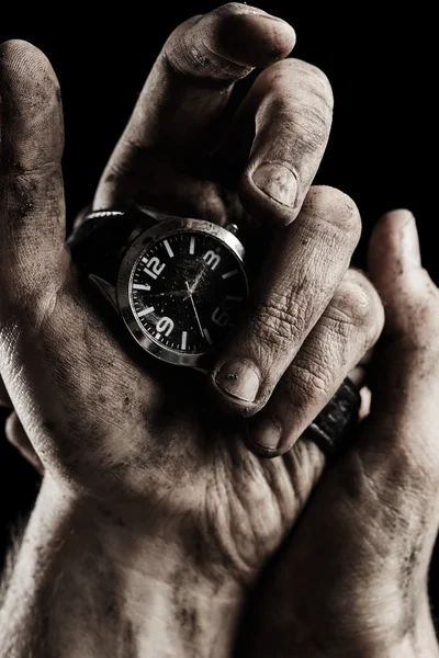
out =
[(216, 399), (250, 416), (270, 398), (345, 275), (360, 235), (354, 203), (313, 188), (297, 219), (278, 231), (233, 339), (212, 372)]

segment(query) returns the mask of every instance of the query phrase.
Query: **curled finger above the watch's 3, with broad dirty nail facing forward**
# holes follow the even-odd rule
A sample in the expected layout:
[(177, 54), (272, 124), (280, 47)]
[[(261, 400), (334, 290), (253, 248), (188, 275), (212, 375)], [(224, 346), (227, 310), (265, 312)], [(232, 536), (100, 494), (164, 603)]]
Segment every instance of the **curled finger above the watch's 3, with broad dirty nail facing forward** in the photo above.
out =
[(295, 218), (323, 158), (333, 106), (327, 77), (306, 61), (285, 59), (258, 76), (216, 156), (227, 180), (240, 181), (252, 218)]

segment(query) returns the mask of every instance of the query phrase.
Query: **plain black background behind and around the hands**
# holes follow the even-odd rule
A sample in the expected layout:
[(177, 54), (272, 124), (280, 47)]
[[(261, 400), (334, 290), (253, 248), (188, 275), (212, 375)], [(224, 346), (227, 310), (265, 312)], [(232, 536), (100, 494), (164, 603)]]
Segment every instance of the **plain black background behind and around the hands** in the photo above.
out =
[[(64, 171), (69, 219), (93, 195), (100, 173), (170, 31), (214, 2), (167, 5), (124, 2), (57, 10), (10, 7), (0, 41), (23, 38), (49, 57), (66, 117)], [(111, 7), (113, 9), (111, 9)], [(410, 208), (425, 266), (439, 283), (435, 206), (437, 71), (432, 9), (351, 3), (260, 2), (296, 30), (294, 56), (319, 66), (335, 94), (331, 137), (316, 182), (350, 194), (363, 217), (361, 264), (371, 226), (384, 211)], [(350, 10), (346, 10), (350, 7)], [(432, 7), (432, 5), (431, 5)], [(142, 11), (140, 11), (142, 9)], [(38, 480), (7, 441), (0, 442), (0, 531), (32, 504)], [(432, 569), (436, 581), (436, 567)], [(432, 588), (435, 590), (435, 588)]]

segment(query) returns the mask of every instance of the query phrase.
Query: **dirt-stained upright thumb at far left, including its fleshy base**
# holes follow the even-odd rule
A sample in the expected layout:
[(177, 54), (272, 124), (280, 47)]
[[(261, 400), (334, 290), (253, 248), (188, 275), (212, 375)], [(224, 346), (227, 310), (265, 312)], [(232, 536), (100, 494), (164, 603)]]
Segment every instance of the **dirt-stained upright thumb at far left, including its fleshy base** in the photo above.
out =
[[(145, 400), (153, 376), (125, 334), (109, 329), (105, 309), (95, 309), (70, 268), (59, 89), (44, 55), (24, 42), (3, 44), (0, 93), (0, 371), (46, 469), (60, 478), (86, 474), (80, 487), (88, 487), (91, 452), (102, 465), (121, 450), (127, 463), (133, 443), (112, 436), (132, 439), (133, 423), (145, 431), (140, 410), (133, 420), (136, 405), (127, 413), (124, 400), (137, 399), (133, 390)], [(130, 396), (115, 395), (115, 387)], [(91, 452), (83, 450), (90, 434)]]

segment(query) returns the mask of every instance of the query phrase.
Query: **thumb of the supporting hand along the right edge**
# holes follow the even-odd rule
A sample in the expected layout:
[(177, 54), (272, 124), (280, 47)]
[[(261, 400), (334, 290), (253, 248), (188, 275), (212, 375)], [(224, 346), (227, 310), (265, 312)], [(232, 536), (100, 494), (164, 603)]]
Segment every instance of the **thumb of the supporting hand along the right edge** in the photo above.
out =
[(385, 325), (372, 367), (371, 413), (356, 452), (390, 533), (389, 549), (404, 552), (405, 540), (414, 542), (413, 563), (424, 579), (439, 526), (439, 291), (421, 266), (408, 211), (381, 217), (368, 261)]

